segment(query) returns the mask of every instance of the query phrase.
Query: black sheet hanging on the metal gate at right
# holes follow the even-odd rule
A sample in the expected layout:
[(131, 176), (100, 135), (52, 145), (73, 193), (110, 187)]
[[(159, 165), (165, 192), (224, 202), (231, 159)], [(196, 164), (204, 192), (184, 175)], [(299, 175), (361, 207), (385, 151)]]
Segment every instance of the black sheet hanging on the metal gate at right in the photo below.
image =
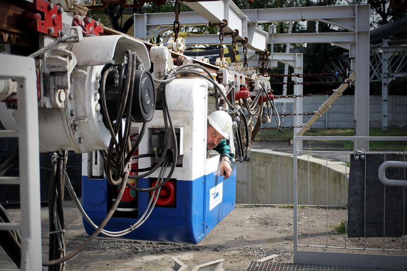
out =
[[(406, 161), (406, 154), (366, 154), (364, 160), (355, 160), (352, 154), (350, 161), (348, 237), (401, 237), (407, 219), (407, 189), (381, 183), (378, 168), (385, 161)], [(406, 180), (406, 171), (388, 168), (386, 177)]]

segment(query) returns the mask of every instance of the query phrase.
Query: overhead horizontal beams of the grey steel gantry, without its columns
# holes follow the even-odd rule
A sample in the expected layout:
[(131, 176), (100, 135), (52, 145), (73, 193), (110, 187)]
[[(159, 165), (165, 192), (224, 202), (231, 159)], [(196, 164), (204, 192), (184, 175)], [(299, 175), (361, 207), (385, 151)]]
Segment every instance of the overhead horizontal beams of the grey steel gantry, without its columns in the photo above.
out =
[[(263, 51), (265, 43), (330, 43), (350, 49), (350, 43), (356, 42), (357, 30), (357, 6), (316, 6), (316, 7), (294, 7), (294, 8), (269, 8), (269, 9), (246, 9), (238, 10), (235, 4), (229, 0), (216, 2), (186, 2), (196, 12), (182, 12), (180, 20), (185, 25), (220, 23), (223, 19), (228, 21), (225, 32), (239, 31), (237, 40), (248, 37), (248, 48), (254, 51)], [(227, 10), (225, 7), (228, 7)], [(359, 8), (364, 8), (359, 6)], [(237, 11), (238, 10), (238, 11)], [(359, 19), (360, 20), (360, 19)], [(172, 24), (173, 13), (151, 13), (136, 14), (135, 25), (146, 27), (135, 29), (135, 36), (148, 39), (153, 33), (162, 34), (171, 28), (164, 26)], [(320, 21), (336, 26), (345, 31), (329, 33), (268, 33), (255, 27), (257, 23), (270, 22), (296, 22), (296, 21)], [(162, 26), (163, 28), (160, 28)], [(367, 29), (368, 30), (368, 29)], [(264, 39), (266, 38), (266, 41)], [(204, 42), (203, 42), (204, 40)], [(230, 37), (225, 37), (224, 42), (230, 43)], [(188, 44), (218, 44), (217, 34), (205, 34), (203, 36), (188, 36)]]

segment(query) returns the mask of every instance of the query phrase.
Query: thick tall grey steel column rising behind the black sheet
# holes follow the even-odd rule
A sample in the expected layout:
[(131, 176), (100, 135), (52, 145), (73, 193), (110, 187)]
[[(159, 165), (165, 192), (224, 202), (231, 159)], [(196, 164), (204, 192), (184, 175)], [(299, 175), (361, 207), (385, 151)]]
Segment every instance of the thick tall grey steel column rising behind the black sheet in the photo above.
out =
[[(369, 136), (369, 6), (355, 6), (356, 25), (356, 136)], [(369, 151), (368, 140), (355, 140), (355, 150)]]

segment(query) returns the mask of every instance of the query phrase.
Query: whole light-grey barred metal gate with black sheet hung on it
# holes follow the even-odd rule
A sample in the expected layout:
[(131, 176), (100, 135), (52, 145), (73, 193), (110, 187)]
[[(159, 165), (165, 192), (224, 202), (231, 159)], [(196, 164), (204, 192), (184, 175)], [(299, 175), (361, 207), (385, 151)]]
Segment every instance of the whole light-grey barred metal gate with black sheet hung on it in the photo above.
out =
[[(406, 217), (406, 197), (407, 197), (407, 179), (406, 179), (406, 168), (407, 164), (407, 152), (403, 151), (390, 151), (390, 152), (380, 152), (384, 157), (391, 157), (392, 154), (396, 153), (397, 157), (400, 156), (402, 166), (398, 168), (401, 170), (401, 180), (397, 180), (397, 185), (404, 184), (406, 186), (400, 187), (401, 192), (399, 190), (399, 194), (401, 193), (402, 201), (401, 204), (395, 206), (393, 209), (398, 209), (398, 213), (402, 213), (402, 223), (401, 231), (399, 234), (400, 236), (396, 237), (389, 237), (386, 233), (389, 229), (389, 225), (387, 223), (388, 220), (391, 219), (392, 212), (389, 212), (389, 206), (386, 207), (386, 203), (389, 201), (388, 198), (380, 198), (377, 197), (377, 201), (383, 201), (383, 204), (378, 208), (383, 208), (383, 210), (379, 210), (383, 213), (382, 217), (377, 218), (378, 221), (381, 221), (382, 225), (375, 224), (367, 224), (368, 221), (367, 217), (370, 215), (367, 212), (366, 208), (370, 206), (366, 206), (369, 204), (367, 202), (367, 194), (370, 193), (367, 190), (366, 183), (370, 182), (372, 179), (372, 175), (379, 176), (378, 167), (371, 169), (371, 173), (366, 174), (366, 157), (369, 155), (375, 154), (377, 152), (368, 151), (364, 152), (361, 151), (298, 151), (296, 148), (298, 140), (309, 140), (312, 142), (314, 140), (330, 140), (330, 142), (339, 142), (344, 140), (369, 140), (369, 141), (406, 141), (407, 137), (369, 137), (369, 136), (294, 136), (294, 263), (297, 264), (318, 264), (318, 265), (337, 265), (337, 266), (350, 266), (350, 267), (365, 267), (365, 268), (391, 268), (391, 269), (406, 269), (407, 268), (407, 217)], [(352, 203), (347, 202), (345, 206), (342, 208), (333, 208), (329, 205), (329, 199), (336, 195), (329, 195), (329, 187), (334, 185), (329, 180), (328, 170), (327, 173), (323, 173), (321, 178), (325, 179), (324, 182), (319, 182), (319, 187), (310, 187), (310, 179), (309, 179), (309, 171), (307, 172), (307, 163), (301, 162), (297, 159), (300, 155), (305, 155), (308, 157), (319, 156), (320, 158), (326, 157), (327, 166), (328, 166), (328, 153), (335, 152), (338, 155), (344, 155), (345, 163), (344, 166), (338, 168), (344, 174), (349, 174), (349, 163), (351, 162), (350, 159), (360, 159), (363, 160), (365, 167), (364, 172), (360, 174), (360, 176), (356, 176), (355, 179), (361, 178), (361, 183), (364, 183), (364, 190), (363, 189), (355, 189), (354, 187), (351, 189), (352, 191), (348, 190), (348, 183), (342, 183), (345, 187), (343, 191), (346, 193), (345, 196), (348, 196), (350, 192), (357, 192), (359, 193), (359, 197), (362, 199), (362, 204), (364, 207), (364, 213), (362, 214), (362, 223), (360, 225), (362, 236), (358, 236), (358, 234), (351, 234), (349, 235), (349, 208), (353, 208), (355, 206), (350, 205)], [(352, 156), (352, 158), (351, 158)], [(301, 159), (304, 161), (304, 159)], [(385, 158), (386, 160), (386, 158)], [(306, 159), (305, 159), (306, 161)], [(377, 162), (377, 161), (376, 161)], [(303, 164), (300, 164), (303, 163)], [(304, 164), (305, 163), (305, 164)], [(363, 166), (363, 163), (361, 164)], [(378, 162), (381, 163), (381, 162)], [(381, 169), (381, 179), (383, 176), (385, 177), (384, 171), (386, 167), (394, 167), (393, 164), (384, 166)], [(327, 167), (328, 168), (328, 167)], [(351, 169), (352, 170), (352, 169)], [(355, 176), (354, 176), (355, 177)], [(375, 178), (376, 178), (375, 177)], [(370, 179), (369, 179), (370, 178)], [(386, 178), (385, 178), (386, 179)], [(307, 182), (308, 191), (298, 191), (297, 187), (299, 187), (300, 182)], [(350, 180), (349, 180), (350, 181)], [(386, 181), (386, 180), (385, 180)], [(387, 181), (394, 181), (394, 180), (387, 180)], [(394, 184), (394, 183), (393, 183)], [(338, 185), (338, 184), (336, 184)], [(390, 187), (384, 184), (376, 184), (379, 189), (383, 191), (383, 197), (386, 197), (386, 189), (390, 191)], [(308, 202), (298, 202), (298, 193), (304, 195), (304, 193), (308, 196)], [(326, 202), (323, 206), (317, 206), (312, 204), (313, 194), (314, 193), (324, 193), (326, 195)], [(374, 199), (375, 200), (375, 199)], [(307, 201), (307, 200), (305, 200)], [(388, 204), (389, 205), (389, 204)], [(359, 208), (360, 206), (356, 206)], [(391, 207), (391, 206), (390, 206)], [(362, 211), (363, 211), (362, 208)], [(360, 209), (360, 208), (359, 208)], [(400, 219), (399, 219), (400, 220)], [(325, 231), (321, 232), (320, 230), (316, 230), (319, 226), (321, 228), (321, 224), (323, 224)], [(337, 227), (337, 229), (335, 229)], [(367, 234), (371, 228), (378, 227), (382, 230), (381, 236), (372, 236), (372, 234)], [(340, 229), (344, 230), (344, 233), (338, 233), (337, 230)], [(385, 231), (386, 228), (386, 231)], [(400, 231), (400, 230), (399, 230)], [(355, 237), (357, 236), (357, 237)]]

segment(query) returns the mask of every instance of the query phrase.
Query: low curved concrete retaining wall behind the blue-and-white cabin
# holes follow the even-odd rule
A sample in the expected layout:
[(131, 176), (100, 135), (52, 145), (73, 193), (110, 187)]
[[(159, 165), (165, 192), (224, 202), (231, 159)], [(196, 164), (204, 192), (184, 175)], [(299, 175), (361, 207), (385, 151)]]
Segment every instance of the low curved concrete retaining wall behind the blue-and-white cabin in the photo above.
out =
[[(236, 203), (293, 204), (293, 155), (252, 149), (250, 156), (237, 162)], [(343, 162), (298, 156), (298, 204), (345, 206), (348, 174)]]

